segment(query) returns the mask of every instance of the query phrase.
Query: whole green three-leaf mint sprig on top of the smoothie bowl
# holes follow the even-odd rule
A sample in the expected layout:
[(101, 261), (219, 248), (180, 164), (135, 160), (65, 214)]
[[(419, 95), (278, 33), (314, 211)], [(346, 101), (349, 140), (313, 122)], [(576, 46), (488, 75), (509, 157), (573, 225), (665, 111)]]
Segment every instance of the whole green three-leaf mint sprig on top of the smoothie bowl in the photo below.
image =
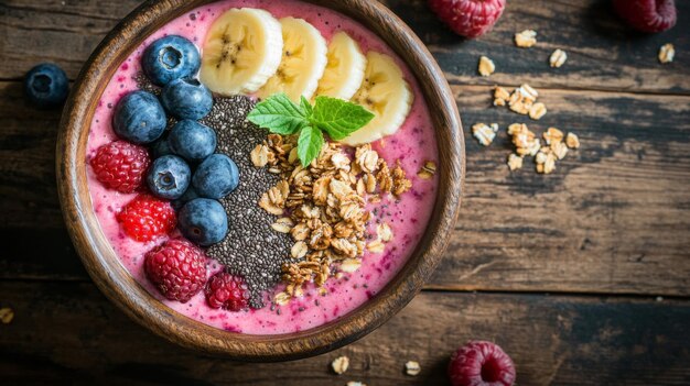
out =
[(306, 167), (319, 156), (325, 142), (324, 132), (334, 141), (343, 140), (369, 123), (374, 114), (359, 104), (337, 98), (316, 97), (312, 107), (304, 97), (298, 106), (287, 95), (277, 93), (259, 102), (247, 119), (271, 133), (299, 133), (298, 157)]

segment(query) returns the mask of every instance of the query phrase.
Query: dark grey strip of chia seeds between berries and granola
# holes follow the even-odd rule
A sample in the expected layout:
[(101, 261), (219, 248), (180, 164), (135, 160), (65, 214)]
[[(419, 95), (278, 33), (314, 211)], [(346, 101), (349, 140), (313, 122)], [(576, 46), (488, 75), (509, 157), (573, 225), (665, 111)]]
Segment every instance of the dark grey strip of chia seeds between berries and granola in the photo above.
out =
[(233, 158), (240, 173), (239, 186), (220, 203), (229, 224), (227, 236), (208, 247), (206, 254), (226, 265), (233, 275), (245, 277), (250, 291), (250, 306), (265, 305), (263, 291), (280, 280), (281, 266), (290, 261), (292, 239), (273, 231), (276, 217), (259, 208), (263, 192), (280, 180), (279, 176), (254, 166), (250, 153), (262, 143), (268, 131), (246, 120), (255, 102), (245, 96), (216, 98), (213, 110), (201, 122), (217, 135), (216, 152)]

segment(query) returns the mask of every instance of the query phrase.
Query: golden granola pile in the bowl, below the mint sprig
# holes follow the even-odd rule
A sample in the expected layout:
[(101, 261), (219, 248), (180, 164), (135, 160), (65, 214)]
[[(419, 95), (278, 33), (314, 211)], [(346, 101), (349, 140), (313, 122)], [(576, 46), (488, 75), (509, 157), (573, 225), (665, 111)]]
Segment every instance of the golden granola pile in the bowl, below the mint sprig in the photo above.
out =
[(292, 261), (282, 266), (285, 291), (274, 297), (278, 305), (300, 297), (306, 283), (323, 287), (337, 271), (357, 271), (365, 249), (381, 253), (392, 231), (380, 223), (377, 238), (367, 243), (373, 235), (366, 231), (370, 213), (365, 205), (379, 202), (382, 195), (400, 196), (412, 186), (399, 163), (390, 168), (368, 144), (358, 146), (351, 158), (339, 144), (328, 143), (308, 167), (297, 152), (297, 136), (270, 134), (250, 154), (256, 167), (280, 175), (258, 205), (280, 217), (273, 230), (294, 241)]

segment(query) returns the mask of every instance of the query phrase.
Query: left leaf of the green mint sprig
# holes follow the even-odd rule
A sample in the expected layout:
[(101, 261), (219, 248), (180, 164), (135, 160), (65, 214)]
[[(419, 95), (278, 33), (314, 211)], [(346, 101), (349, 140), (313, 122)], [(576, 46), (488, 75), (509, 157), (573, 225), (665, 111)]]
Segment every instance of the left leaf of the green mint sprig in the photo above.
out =
[(306, 117), (304, 109), (294, 104), (287, 95), (277, 93), (259, 102), (247, 115), (247, 120), (271, 133), (289, 135), (309, 124)]

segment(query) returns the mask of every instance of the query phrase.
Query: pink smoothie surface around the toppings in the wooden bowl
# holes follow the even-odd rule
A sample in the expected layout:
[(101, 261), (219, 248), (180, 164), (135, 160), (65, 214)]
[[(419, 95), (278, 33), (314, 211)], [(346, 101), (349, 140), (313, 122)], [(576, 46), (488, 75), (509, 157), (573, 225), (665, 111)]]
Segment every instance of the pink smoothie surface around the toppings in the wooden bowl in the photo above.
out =
[[(368, 208), (376, 213), (375, 219), (388, 222), (393, 231), (393, 240), (386, 245), (385, 252), (380, 254), (365, 252), (363, 265), (356, 273), (346, 274), (341, 279), (328, 279), (325, 296), (310, 287), (305, 290), (303, 298), (295, 299), (287, 306), (277, 306), (273, 310), (271, 307), (240, 312), (212, 309), (206, 305), (203, 293), (197, 294), (186, 304), (170, 301), (164, 299), (148, 282), (142, 266), (144, 253), (164, 242), (166, 238), (140, 243), (126, 236), (115, 214), (134, 195), (123, 195), (104, 188), (95, 179), (90, 167), (87, 168), (88, 184), (94, 210), (104, 234), (110, 241), (122, 265), (154, 297), (188, 318), (219, 329), (249, 334), (281, 334), (311, 329), (346, 315), (376, 296), (402, 267), (427, 228), (435, 200), (436, 177), (421, 179), (417, 177), (417, 173), (425, 161), (433, 161), (438, 164), (436, 141), (419, 85), (411, 76), (409, 68), (378, 36), (363, 25), (337, 12), (295, 0), (226, 0), (197, 8), (168, 23), (149, 36), (120, 65), (96, 109), (87, 146), (88, 157), (90, 158), (99, 146), (116, 140), (110, 125), (112, 108), (123, 95), (137, 89), (133, 78), (141, 70), (140, 58), (148, 44), (159, 37), (176, 34), (195, 42), (201, 49), (206, 32), (215, 18), (230, 8), (241, 7), (261, 8), (277, 18), (305, 19), (319, 29), (326, 40), (338, 31), (345, 31), (359, 42), (365, 53), (374, 49), (391, 55), (403, 69), (416, 96), (411, 113), (395, 135), (374, 144), (374, 147), (390, 165), (400, 161), (408, 178), (412, 180), (412, 189), (403, 194), (398, 201), (384, 199)], [(373, 221), (370, 225), (373, 234), (376, 232), (375, 228), (376, 222)], [(222, 269), (219, 263), (211, 260), (208, 267), (209, 276)]]

